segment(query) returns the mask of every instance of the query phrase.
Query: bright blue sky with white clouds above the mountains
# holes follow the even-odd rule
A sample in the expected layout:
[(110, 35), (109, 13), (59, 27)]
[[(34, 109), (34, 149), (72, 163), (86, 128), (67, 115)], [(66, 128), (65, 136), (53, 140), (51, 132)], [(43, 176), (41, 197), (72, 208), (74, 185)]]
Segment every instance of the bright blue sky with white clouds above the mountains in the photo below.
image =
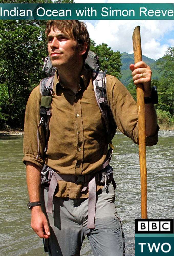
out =
[[(75, 3), (117, 3), (115, 0), (74, 0)], [(129, 3), (119, 1), (119, 3)], [(157, 3), (158, 1), (146, 1)], [(168, 3), (170, 3), (168, 1)], [(104, 42), (114, 51), (133, 53), (132, 34), (140, 26), (142, 54), (157, 60), (174, 46), (174, 20), (82, 20), (95, 43)]]

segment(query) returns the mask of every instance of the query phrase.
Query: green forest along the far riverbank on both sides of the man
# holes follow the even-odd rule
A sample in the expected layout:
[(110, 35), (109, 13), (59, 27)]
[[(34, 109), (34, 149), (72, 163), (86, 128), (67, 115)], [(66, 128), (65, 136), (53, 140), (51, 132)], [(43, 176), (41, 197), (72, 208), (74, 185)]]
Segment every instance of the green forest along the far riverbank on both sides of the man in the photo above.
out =
[[(0, 3), (35, 3), (35, 1), (2, 1)], [(58, 0), (55, 3), (72, 3), (73, 0)], [(37, 3), (52, 3), (37, 1)], [(45, 77), (43, 60), (47, 57), (45, 37), (46, 20), (0, 20), (0, 128), (24, 127), (25, 106), (30, 92)], [(111, 50), (104, 42), (96, 45), (91, 39), (90, 50), (99, 56), (99, 66), (120, 79), (121, 54)], [(160, 129), (174, 129), (174, 47), (169, 47), (158, 62), (159, 80), (156, 105)], [(127, 89), (136, 100), (133, 81)]]

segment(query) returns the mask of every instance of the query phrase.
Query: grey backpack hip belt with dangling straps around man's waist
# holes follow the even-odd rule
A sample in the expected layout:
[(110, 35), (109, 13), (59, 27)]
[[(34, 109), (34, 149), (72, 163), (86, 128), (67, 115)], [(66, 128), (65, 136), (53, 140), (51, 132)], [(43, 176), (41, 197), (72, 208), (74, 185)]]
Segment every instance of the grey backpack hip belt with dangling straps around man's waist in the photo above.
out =
[(55, 172), (55, 170), (51, 169), (46, 164), (44, 164), (44, 167), (41, 170), (41, 184), (49, 183), (48, 201), (47, 201), (47, 210), (46, 210), (49, 214), (52, 214), (53, 212), (53, 196), (54, 196), (56, 187), (58, 185), (58, 182), (57, 182), (58, 180), (64, 180), (66, 182), (73, 182), (73, 183), (83, 182), (84, 185), (81, 189), (81, 192), (89, 188), (87, 228), (95, 228), (96, 183), (105, 184), (104, 188), (106, 189), (107, 184), (112, 182), (113, 187), (115, 189), (116, 183), (113, 178), (112, 167), (109, 164), (107, 164), (105, 168), (101, 169), (100, 171), (94, 174), (66, 175), (66, 174), (58, 174), (57, 172)]

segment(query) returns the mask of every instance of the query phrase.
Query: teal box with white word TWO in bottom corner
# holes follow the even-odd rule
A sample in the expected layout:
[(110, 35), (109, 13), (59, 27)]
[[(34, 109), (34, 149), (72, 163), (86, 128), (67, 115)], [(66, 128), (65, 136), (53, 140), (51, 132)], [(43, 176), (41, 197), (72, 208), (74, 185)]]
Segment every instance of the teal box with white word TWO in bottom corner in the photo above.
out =
[[(162, 235), (162, 234), (161, 234)], [(174, 234), (172, 236), (135, 236), (135, 256), (173, 256)]]

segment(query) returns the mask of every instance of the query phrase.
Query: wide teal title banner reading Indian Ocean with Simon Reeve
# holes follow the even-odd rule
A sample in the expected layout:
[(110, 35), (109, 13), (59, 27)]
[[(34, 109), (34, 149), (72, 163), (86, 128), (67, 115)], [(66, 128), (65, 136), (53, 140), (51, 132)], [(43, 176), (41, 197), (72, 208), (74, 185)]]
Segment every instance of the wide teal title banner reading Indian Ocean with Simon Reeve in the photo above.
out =
[(173, 4), (0, 4), (0, 19), (173, 18)]

